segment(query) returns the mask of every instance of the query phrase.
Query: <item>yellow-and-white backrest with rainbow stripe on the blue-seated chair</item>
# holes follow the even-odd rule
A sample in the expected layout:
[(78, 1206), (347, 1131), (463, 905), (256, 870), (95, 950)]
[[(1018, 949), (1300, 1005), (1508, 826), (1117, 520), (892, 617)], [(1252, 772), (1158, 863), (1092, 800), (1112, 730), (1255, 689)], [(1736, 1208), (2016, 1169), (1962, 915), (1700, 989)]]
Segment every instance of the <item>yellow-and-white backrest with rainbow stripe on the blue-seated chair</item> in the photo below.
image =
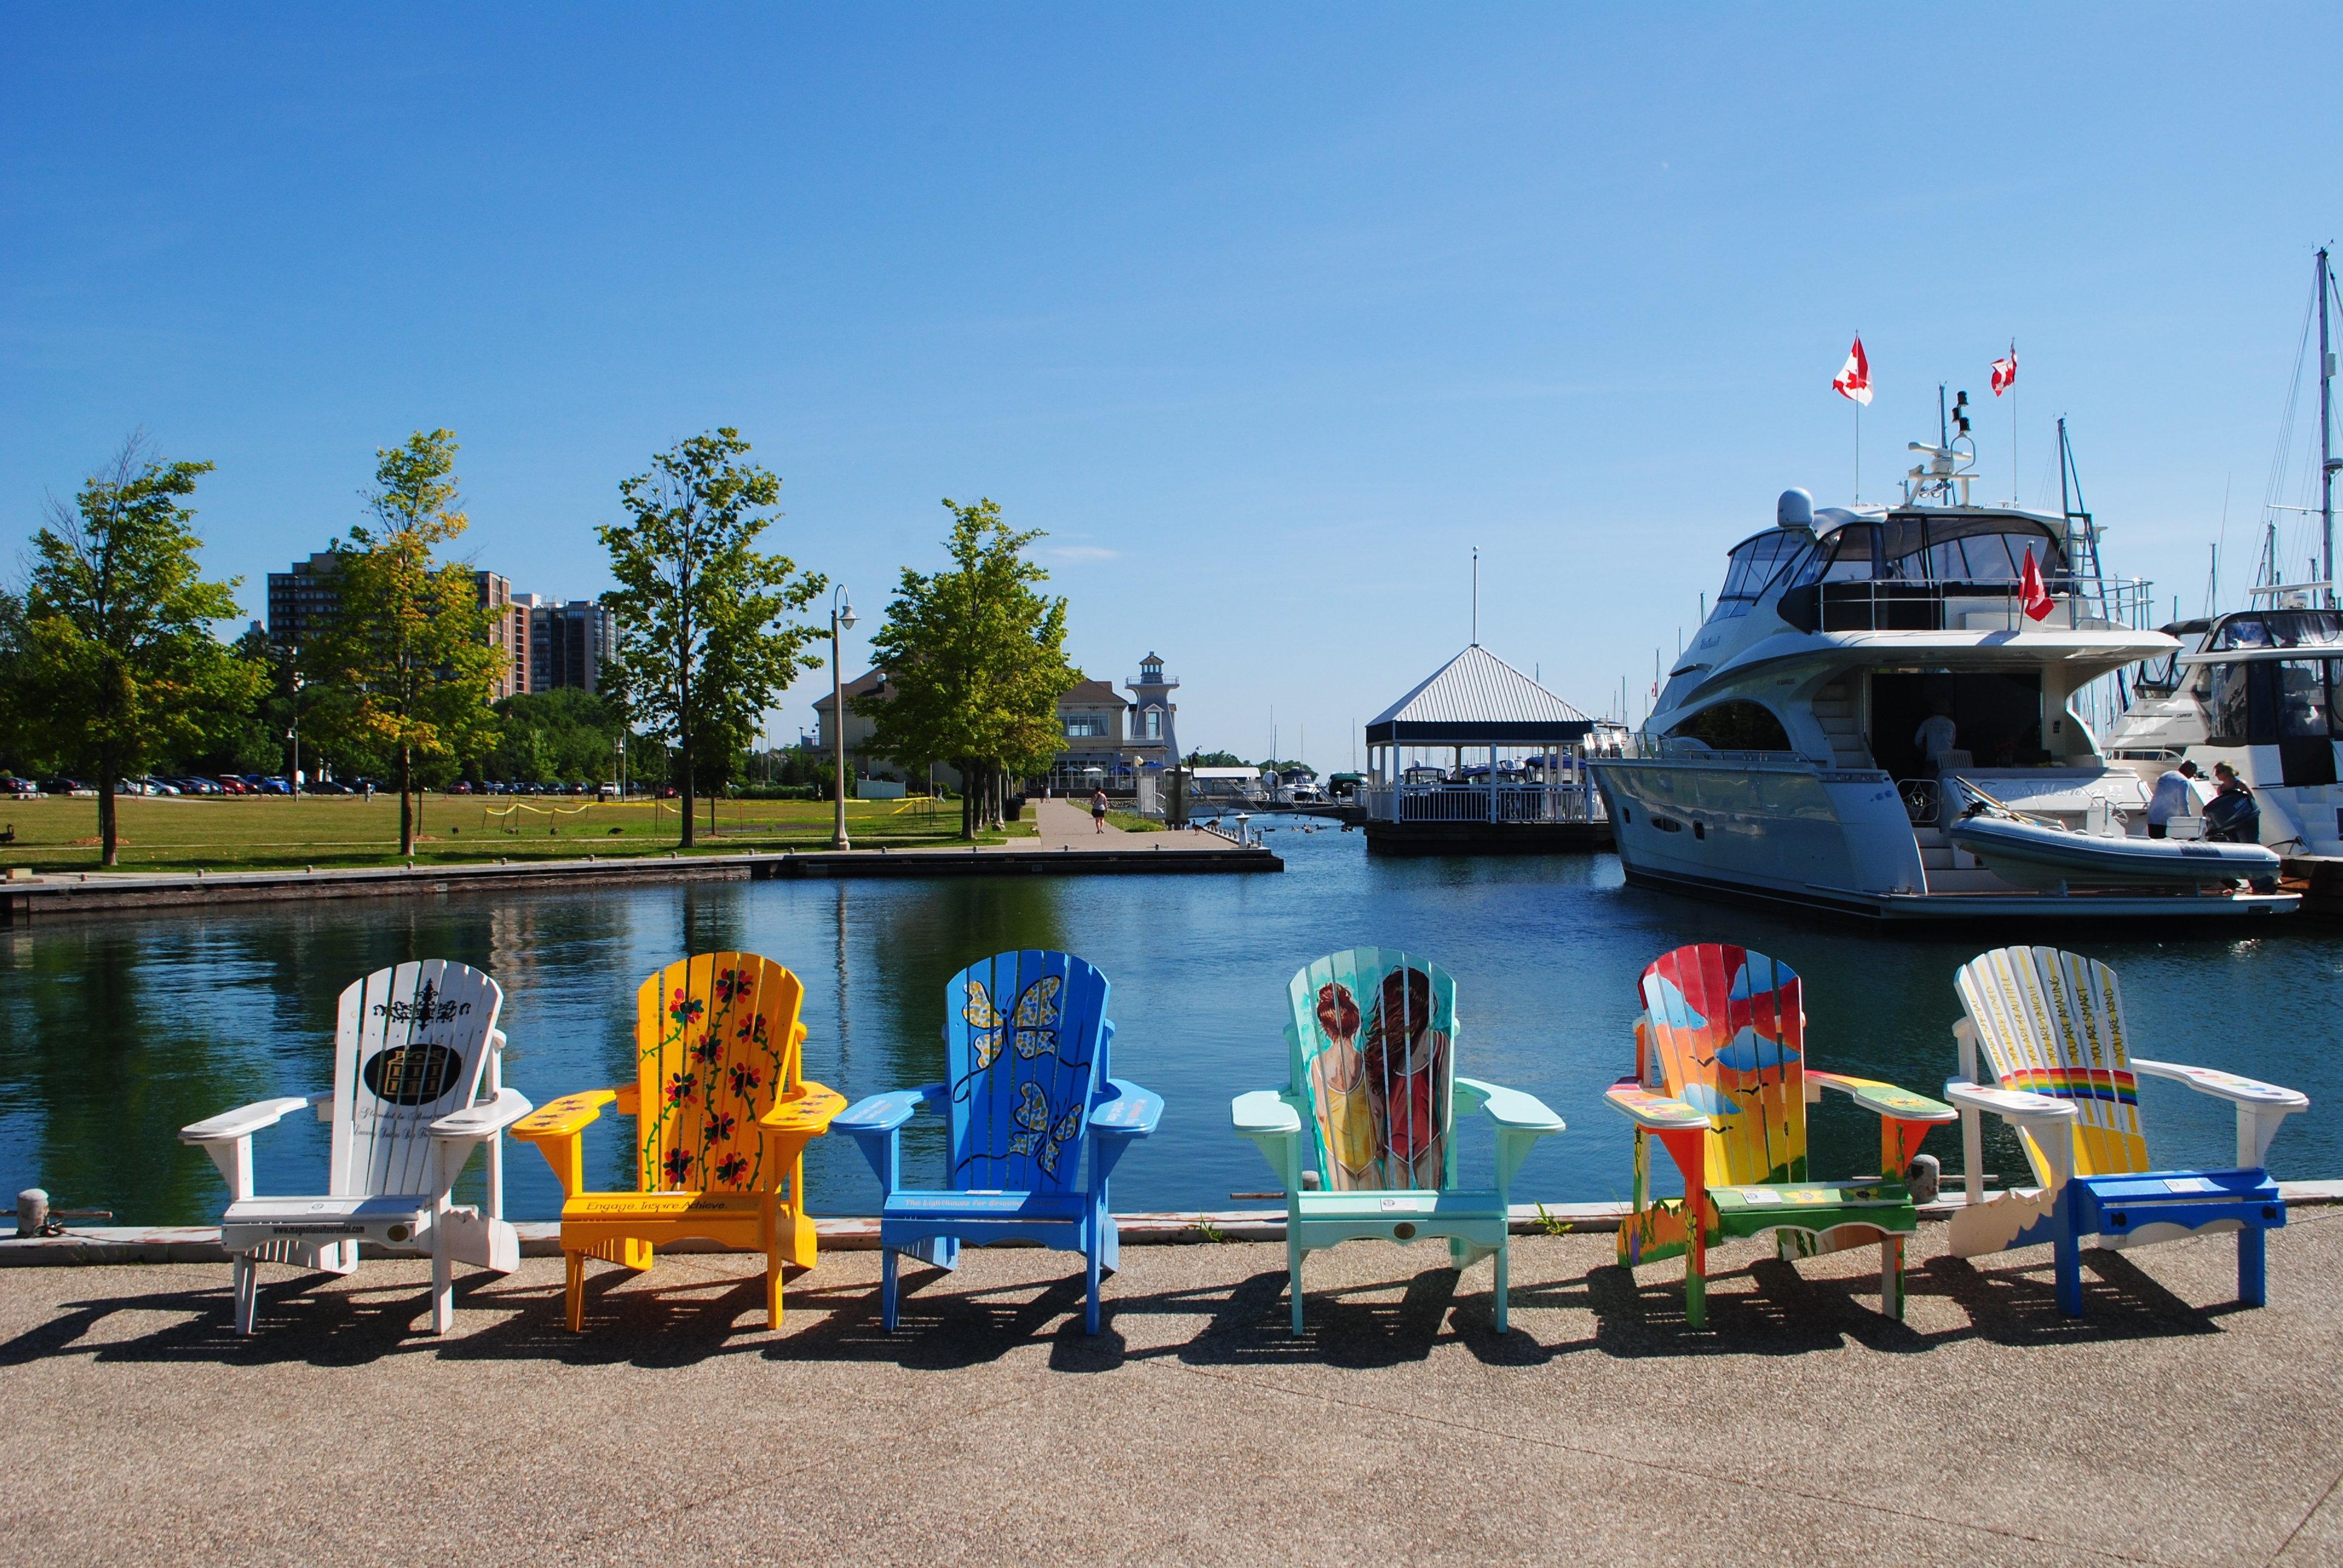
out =
[[(2074, 1106), (2078, 1177), (2151, 1170), (2116, 970), (2057, 947), (1996, 947), (1963, 963), (1954, 989), (1999, 1088)], [(2050, 1181), (2043, 1153), (2022, 1141), (2034, 1177)]]

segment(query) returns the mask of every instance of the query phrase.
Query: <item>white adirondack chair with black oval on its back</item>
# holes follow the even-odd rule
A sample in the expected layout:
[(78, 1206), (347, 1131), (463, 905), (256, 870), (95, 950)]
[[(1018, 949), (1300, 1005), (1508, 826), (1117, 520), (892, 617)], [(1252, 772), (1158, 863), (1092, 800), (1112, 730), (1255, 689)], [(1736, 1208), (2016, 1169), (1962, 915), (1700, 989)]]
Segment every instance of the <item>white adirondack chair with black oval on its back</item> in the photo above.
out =
[[(262, 1261), (347, 1275), (361, 1240), (426, 1247), (433, 1334), (455, 1322), (457, 1261), (520, 1268), (520, 1235), (504, 1219), (504, 1130), (530, 1113), (530, 1102), (501, 1083), (501, 1008), (497, 982), (462, 963), (426, 959), (375, 970), (342, 991), (330, 1090), (260, 1099), (180, 1127), (180, 1141), (199, 1144), (227, 1179), (220, 1242), (234, 1266), (237, 1334), (253, 1331)], [(309, 1106), (333, 1123), (326, 1193), (253, 1193), (253, 1134)], [(480, 1144), (485, 1214), (448, 1200)]]

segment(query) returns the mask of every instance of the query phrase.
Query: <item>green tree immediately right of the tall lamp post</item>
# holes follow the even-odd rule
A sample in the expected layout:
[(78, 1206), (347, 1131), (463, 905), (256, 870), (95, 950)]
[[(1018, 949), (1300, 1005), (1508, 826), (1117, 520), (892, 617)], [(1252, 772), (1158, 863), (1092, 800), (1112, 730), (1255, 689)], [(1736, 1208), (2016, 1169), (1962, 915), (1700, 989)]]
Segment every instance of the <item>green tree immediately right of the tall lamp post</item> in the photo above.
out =
[(951, 511), (951, 567), (904, 567), (872, 654), (893, 694), (858, 696), (872, 720), (869, 752), (909, 769), (961, 771), (961, 837), (998, 816), (1007, 776), (1045, 766), (1064, 731), (1057, 698), (1082, 680), (1066, 663), (1066, 600), (1036, 588), (1050, 574), (1026, 560), (1040, 532), (1017, 532), (984, 499)]

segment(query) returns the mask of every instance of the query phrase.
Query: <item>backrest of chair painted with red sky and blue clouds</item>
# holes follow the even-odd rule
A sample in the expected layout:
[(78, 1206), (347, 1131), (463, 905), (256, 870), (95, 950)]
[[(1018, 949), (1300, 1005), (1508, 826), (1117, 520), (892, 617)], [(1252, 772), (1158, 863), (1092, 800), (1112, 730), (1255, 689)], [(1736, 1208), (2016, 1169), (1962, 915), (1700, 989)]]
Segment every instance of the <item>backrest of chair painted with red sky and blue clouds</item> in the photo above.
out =
[(1642, 970), (1638, 1066), (1708, 1118), (1708, 1181), (1806, 1179), (1806, 1013), (1797, 975), (1701, 942)]

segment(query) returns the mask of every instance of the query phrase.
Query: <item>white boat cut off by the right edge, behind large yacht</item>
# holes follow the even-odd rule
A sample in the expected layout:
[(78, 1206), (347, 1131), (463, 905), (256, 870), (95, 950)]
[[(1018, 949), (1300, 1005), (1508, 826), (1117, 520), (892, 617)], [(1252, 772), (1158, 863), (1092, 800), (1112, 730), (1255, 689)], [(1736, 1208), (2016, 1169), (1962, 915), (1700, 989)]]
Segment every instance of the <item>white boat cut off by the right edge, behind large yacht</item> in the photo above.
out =
[(2165, 626), (2179, 647), (2132, 673), (2132, 705), (2106, 727), (2109, 755), (2146, 780), (2184, 757), (2207, 785), (2216, 762), (2238, 769), (2261, 841), (2315, 900), (2343, 891), (2343, 612), (2322, 607), (2327, 588), (2254, 588), (2252, 609)]

